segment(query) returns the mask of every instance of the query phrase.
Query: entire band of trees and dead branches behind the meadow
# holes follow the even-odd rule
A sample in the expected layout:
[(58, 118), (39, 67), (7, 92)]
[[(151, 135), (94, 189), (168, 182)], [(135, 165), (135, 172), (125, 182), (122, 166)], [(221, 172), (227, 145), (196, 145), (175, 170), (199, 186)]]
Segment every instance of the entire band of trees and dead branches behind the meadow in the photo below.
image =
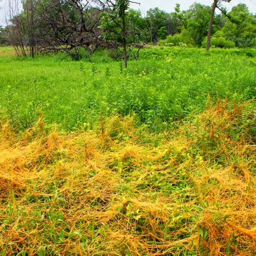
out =
[[(256, 16), (245, 4), (214, 13), (211, 46), (256, 47)], [(159, 8), (146, 13), (129, 8), (128, 0), (8, 0), (0, 44), (12, 45), (17, 54), (64, 51), (79, 57), (81, 49), (113, 49), (115, 58), (137, 58), (142, 44), (205, 47), (212, 6), (193, 3), (188, 10)]]

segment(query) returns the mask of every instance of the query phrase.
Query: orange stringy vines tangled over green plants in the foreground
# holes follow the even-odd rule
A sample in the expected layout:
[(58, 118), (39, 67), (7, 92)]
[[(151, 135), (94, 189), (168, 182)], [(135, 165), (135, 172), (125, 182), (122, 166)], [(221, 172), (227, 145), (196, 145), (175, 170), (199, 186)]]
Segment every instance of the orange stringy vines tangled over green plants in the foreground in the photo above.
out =
[(2, 255), (256, 255), (255, 102), (160, 133), (132, 115), (72, 133), (0, 120)]

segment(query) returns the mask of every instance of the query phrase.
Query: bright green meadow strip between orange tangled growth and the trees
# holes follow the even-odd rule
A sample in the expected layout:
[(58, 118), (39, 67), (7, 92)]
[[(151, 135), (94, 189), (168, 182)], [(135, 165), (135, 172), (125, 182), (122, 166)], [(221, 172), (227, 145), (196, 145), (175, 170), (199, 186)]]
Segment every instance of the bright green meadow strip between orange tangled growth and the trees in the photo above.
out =
[(255, 98), (254, 49), (169, 48), (142, 49), (128, 69), (102, 50), (92, 63), (61, 54), (0, 58), (0, 110), (21, 130), (40, 115), (76, 131), (93, 129), (100, 115), (135, 113), (152, 131), (167, 131), (204, 111), (209, 96)]

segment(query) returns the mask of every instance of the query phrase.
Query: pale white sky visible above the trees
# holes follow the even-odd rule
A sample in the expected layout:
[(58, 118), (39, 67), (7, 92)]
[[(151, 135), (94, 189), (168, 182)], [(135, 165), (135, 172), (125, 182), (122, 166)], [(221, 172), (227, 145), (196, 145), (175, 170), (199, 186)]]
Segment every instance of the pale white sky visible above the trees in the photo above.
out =
[[(187, 10), (192, 3), (202, 3), (205, 5), (211, 5), (213, 0), (134, 0), (134, 2), (139, 2), (140, 6), (137, 4), (131, 4), (130, 7), (133, 9), (140, 9), (142, 13), (145, 13), (150, 8), (158, 7), (166, 12), (174, 12), (175, 4), (180, 4), (181, 10)], [(0, 0), (0, 7), (4, 7), (6, 0)], [(224, 6), (227, 9), (231, 9), (232, 6), (236, 6), (239, 3), (245, 3), (250, 12), (256, 13), (256, 0), (231, 0), (230, 3), (225, 3)], [(0, 26), (4, 26), (4, 12), (0, 9)]]

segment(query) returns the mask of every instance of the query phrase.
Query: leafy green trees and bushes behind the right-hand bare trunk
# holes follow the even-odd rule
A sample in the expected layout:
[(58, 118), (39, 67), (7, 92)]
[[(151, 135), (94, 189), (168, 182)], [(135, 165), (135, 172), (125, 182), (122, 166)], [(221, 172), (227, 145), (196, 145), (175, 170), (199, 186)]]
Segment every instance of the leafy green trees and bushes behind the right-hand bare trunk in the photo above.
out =
[[(206, 47), (208, 26), (212, 7), (194, 3), (186, 11), (180, 11), (177, 4), (171, 13), (172, 23), (177, 19), (177, 31), (168, 35), (160, 44), (179, 45), (180, 42)], [(221, 14), (214, 14), (211, 46), (215, 47), (256, 47), (256, 15), (239, 3), (230, 12), (221, 6)], [(161, 38), (160, 38), (161, 39)]]

